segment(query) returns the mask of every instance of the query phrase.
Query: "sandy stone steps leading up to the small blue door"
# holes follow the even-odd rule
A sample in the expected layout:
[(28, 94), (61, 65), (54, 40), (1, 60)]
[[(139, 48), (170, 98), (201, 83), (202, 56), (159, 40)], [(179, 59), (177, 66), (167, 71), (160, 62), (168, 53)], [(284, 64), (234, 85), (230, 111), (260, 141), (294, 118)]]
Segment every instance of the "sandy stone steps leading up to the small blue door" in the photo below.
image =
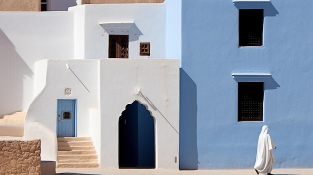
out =
[(98, 156), (90, 137), (58, 137), (56, 168), (97, 168)]

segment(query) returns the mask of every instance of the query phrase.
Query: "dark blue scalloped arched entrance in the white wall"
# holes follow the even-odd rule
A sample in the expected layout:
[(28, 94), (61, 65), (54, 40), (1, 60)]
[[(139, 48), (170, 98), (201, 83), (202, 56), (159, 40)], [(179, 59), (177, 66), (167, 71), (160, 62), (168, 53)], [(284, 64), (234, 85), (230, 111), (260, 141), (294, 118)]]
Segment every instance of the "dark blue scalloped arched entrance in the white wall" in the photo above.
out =
[(154, 119), (134, 101), (118, 119), (119, 168), (155, 168)]

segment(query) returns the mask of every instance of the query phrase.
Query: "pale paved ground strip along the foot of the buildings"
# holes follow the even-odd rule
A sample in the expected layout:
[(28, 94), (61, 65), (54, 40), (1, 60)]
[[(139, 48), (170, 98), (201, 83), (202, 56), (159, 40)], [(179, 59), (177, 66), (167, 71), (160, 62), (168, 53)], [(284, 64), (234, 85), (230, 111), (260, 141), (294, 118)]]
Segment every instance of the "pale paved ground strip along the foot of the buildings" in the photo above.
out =
[[(274, 175), (313, 175), (313, 169), (274, 169)], [(251, 170), (56, 169), (56, 175), (256, 175)]]

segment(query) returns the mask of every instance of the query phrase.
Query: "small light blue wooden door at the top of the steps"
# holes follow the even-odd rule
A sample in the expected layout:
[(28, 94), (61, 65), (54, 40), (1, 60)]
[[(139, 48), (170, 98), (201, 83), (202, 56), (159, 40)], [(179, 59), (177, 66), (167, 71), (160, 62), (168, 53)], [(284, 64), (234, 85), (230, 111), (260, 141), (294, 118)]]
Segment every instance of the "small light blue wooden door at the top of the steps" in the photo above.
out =
[(76, 100), (57, 100), (57, 137), (75, 137)]

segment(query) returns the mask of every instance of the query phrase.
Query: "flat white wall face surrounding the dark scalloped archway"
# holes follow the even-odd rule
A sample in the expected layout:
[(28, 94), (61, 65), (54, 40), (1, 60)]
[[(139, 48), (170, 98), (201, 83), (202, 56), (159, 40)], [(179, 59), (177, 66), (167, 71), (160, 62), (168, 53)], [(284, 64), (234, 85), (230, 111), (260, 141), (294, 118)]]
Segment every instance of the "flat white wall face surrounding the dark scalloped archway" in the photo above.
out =
[(155, 168), (178, 169), (178, 59), (101, 59), (100, 98), (100, 167), (118, 168), (118, 118), (137, 100), (155, 118)]

